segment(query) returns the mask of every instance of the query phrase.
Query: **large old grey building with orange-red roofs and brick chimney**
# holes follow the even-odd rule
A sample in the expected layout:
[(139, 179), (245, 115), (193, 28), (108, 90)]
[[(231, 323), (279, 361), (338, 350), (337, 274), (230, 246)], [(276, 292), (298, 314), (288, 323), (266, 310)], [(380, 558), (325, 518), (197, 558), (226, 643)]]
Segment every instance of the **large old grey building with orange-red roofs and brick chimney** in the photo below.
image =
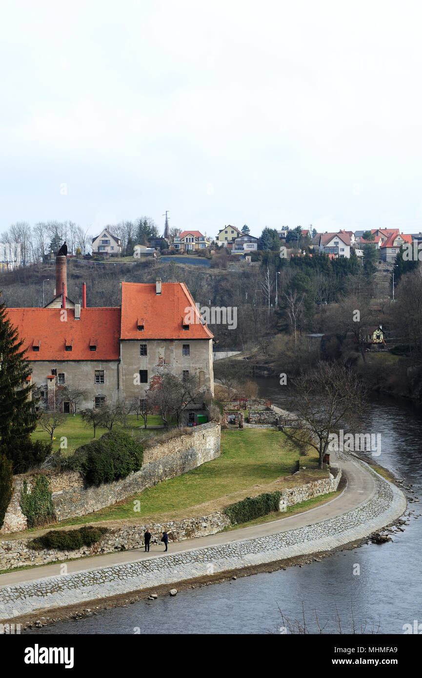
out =
[(59, 263), (56, 290), (61, 284), (62, 295), (53, 305), (8, 309), (31, 363), (40, 410), (71, 413), (74, 401), (81, 410), (143, 398), (164, 366), (178, 376), (197, 376), (202, 391), (213, 393), (213, 336), (184, 283), (123, 282), (121, 307), (87, 308), (85, 285), (82, 304), (67, 303)]

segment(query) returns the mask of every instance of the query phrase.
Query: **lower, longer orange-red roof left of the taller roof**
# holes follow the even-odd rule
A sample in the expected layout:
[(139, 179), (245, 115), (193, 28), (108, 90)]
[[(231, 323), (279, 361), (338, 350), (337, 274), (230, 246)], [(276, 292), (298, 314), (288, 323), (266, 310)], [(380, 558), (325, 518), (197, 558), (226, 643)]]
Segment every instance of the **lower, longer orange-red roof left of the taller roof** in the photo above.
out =
[[(8, 308), (12, 325), (18, 327), (28, 360), (118, 360), (120, 356), (120, 308), (81, 308), (75, 320), (73, 308)], [(96, 351), (90, 341), (97, 340)], [(39, 351), (33, 351), (38, 344)], [(72, 351), (65, 351), (66, 343)], [(68, 343), (68, 345), (69, 345)]]

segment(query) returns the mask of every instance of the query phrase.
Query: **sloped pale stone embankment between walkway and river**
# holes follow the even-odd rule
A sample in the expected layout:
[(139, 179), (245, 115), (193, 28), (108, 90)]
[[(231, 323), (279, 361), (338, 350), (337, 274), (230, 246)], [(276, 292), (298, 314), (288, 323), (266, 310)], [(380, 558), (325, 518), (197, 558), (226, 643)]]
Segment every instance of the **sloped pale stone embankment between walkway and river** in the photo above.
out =
[(319, 523), (277, 534), (243, 539), (182, 553), (162, 554), (146, 560), (97, 570), (49, 577), (0, 588), (0, 621), (34, 610), (88, 603), (96, 599), (149, 589), (160, 584), (220, 574), (235, 568), (328, 551), (364, 538), (389, 525), (406, 510), (401, 490), (372, 471), (375, 494), (365, 504)]

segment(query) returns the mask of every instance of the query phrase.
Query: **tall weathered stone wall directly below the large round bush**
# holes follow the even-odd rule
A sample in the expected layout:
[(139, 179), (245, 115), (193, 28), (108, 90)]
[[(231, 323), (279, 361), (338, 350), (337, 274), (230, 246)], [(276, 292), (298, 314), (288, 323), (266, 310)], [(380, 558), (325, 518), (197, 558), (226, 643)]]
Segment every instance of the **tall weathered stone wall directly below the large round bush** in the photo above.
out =
[[(46, 472), (52, 487), (54, 511), (58, 520), (94, 513), (127, 497), (142, 492), (147, 487), (174, 478), (197, 468), (220, 455), (220, 424), (201, 424), (192, 432), (157, 443), (144, 452), (142, 468), (136, 473), (99, 487), (85, 487), (79, 473)], [(19, 507), (20, 487), (26, 477), (31, 487), (31, 477), (16, 476), (12, 501), (7, 508), (5, 523), (0, 534), (18, 532), (26, 528), (26, 518)]]

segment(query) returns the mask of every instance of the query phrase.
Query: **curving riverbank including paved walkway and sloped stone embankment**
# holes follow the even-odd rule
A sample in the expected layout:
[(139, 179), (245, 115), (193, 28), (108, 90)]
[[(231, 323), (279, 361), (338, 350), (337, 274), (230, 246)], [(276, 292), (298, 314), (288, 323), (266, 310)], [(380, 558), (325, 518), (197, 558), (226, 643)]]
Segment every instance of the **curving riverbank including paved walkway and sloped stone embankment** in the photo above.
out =
[[(144, 597), (157, 587), (163, 587), (163, 591), (166, 587), (167, 591), (179, 589), (183, 582), (195, 586), (203, 578), (223, 580), (234, 571), (246, 572), (248, 568), (250, 574), (261, 568), (269, 571), (277, 569), (274, 563), (279, 562), (286, 567), (290, 559), (309, 560), (312, 554), (332, 553), (347, 544), (358, 544), (404, 513), (404, 494), (368, 464), (351, 458), (341, 466), (349, 481), (341, 497), (307, 513), (239, 530), (242, 535), (236, 534), (236, 539), (232, 532), (219, 533), (198, 540), (204, 544), (199, 548), (180, 542), (175, 553), (166, 555), (144, 555), (140, 551), (115, 554), (102, 558), (109, 563), (114, 559), (118, 564), (99, 569), (85, 564), (78, 569), (77, 563), (69, 563), (67, 572), (73, 572), (62, 576), (57, 576), (60, 566), (50, 569), (49, 574), (45, 574), (47, 568), (54, 566), (45, 566), (38, 568), (38, 573), (16, 573), (16, 582), (21, 583), (14, 583), (12, 575), (2, 575), (0, 615), (3, 620), (17, 620), (32, 616), (35, 610), (39, 617), (57, 607), (85, 605), (85, 609), (92, 610), (104, 599), (104, 590), (111, 598), (128, 599), (141, 595), (141, 591)], [(24, 582), (25, 576), (32, 580)]]

